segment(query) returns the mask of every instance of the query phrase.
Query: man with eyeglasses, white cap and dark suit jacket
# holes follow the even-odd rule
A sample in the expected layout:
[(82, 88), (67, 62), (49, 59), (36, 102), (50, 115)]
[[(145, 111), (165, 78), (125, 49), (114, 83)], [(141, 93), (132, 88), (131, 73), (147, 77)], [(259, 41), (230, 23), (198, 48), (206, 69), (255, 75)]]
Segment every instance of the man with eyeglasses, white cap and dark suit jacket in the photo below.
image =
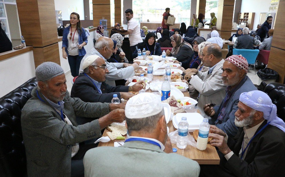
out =
[[(117, 94), (121, 100), (129, 99), (134, 96), (128, 91), (140, 91), (143, 89), (144, 81), (139, 81), (133, 86), (110, 86), (106, 84), (105, 80), (109, 70), (105, 60), (98, 55), (88, 56), (82, 65), (83, 72), (76, 78), (70, 96), (80, 98), (84, 102), (91, 103), (111, 103), (113, 94)], [(76, 117), (79, 124), (91, 122), (94, 118)]]

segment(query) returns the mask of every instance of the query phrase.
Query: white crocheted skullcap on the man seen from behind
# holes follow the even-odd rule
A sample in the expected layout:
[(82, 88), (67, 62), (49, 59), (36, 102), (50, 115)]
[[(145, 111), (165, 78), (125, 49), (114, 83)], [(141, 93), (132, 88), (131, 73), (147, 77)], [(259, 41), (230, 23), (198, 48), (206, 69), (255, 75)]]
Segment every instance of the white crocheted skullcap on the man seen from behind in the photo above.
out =
[(128, 119), (146, 118), (162, 111), (160, 98), (153, 93), (139, 93), (129, 99), (125, 107)]

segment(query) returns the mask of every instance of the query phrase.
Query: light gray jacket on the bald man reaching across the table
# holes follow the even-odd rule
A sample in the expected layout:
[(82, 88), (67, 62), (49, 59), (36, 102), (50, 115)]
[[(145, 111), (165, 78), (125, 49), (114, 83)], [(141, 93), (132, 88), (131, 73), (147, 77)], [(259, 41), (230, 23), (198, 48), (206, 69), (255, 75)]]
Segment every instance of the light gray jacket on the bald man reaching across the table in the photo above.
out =
[(109, 63), (107, 62), (106, 58), (104, 58), (94, 47), (89, 52), (87, 52), (82, 58), (80, 62), (79, 73), (83, 72), (83, 62), (85, 58), (90, 55), (99, 55), (105, 60), (107, 64), (107, 69), (109, 70), (109, 73), (106, 77), (106, 84), (110, 86), (116, 86), (115, 80), (126, 79), (135, 76), (135, 70), (133, 66), (123, 68), (123, 63)]

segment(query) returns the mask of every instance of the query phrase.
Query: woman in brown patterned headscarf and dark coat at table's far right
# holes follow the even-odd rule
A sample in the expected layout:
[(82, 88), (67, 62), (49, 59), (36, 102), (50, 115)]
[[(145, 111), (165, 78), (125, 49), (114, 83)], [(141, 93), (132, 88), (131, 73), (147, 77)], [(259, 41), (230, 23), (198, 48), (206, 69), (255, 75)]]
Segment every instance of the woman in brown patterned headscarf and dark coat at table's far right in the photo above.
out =
[[(184, 62), (185, 60), (191, 60), (193, 54), (193, 48), (188, 43), (185, 42), (180, 34), (174, 34), (170, 37), (172, 50), (166, 50), (168, 56), (173, 56), (178, 62)], [(186, 68), (187, 69), (187, 68)]]

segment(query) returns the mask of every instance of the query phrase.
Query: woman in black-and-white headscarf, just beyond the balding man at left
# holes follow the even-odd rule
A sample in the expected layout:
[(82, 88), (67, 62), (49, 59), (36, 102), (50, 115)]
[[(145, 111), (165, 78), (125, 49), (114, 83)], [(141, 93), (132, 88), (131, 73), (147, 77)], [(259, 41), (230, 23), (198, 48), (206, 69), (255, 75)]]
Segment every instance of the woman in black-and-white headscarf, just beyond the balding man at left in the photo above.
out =
[(111, 39), (117, 42), (117, 52), (113, 53), (113, 56), (111, 56), (111, 58), (115, 58), (115, 60), (120, 63), (129, 63), (122, 49), (124, 37), (119, 33), (115, 33), (111, 36)]

